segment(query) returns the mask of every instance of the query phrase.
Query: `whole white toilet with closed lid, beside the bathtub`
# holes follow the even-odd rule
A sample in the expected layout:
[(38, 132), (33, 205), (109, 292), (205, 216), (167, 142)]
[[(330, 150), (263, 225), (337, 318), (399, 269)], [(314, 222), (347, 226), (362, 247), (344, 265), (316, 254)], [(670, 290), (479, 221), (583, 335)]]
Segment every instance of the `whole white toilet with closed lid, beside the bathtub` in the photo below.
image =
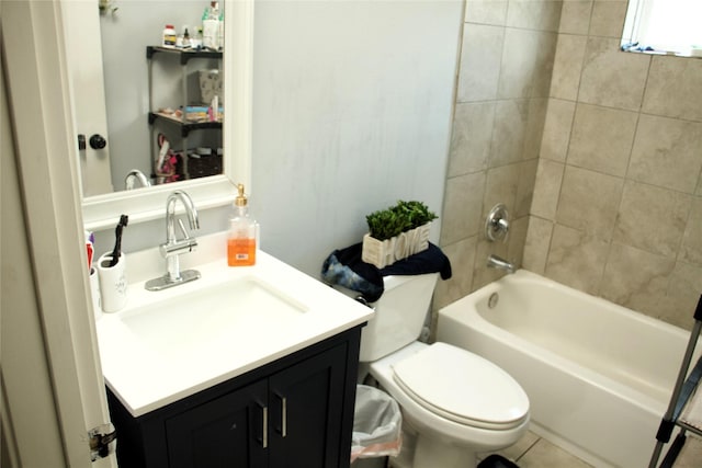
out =
[(460, 347), (417, 341), (438, 276), (385, 276), (361, 335), (361, 374), (373, 377), (403, 413), (403, 449), (394, 467), (472, 468), (477, 453), (514, 444), (529, 425), (529, 398), (509, 374)]

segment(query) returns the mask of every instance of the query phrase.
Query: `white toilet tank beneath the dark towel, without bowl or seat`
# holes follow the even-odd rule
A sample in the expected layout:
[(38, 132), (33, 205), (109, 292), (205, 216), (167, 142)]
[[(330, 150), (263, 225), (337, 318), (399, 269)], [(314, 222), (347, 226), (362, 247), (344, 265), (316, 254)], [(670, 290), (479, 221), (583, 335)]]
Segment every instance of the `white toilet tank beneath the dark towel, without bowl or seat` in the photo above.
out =
[(383, 296), (370, 305), (375, 316), (363, 328), (359, 361), (380, 359), (419, 338), (438, 277), (439, 273), (384, 277)]

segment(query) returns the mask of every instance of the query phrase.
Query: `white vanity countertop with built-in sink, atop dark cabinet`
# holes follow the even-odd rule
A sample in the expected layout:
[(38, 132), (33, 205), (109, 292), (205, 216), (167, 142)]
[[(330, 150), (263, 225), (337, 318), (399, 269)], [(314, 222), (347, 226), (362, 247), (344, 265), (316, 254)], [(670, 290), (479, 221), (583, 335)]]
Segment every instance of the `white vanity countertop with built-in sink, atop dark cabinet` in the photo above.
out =
[[(242, 375), (373, 317), (372, 309), (262, 251), (257, 252), (254, 266), (229, 267), (226, 259), (220, 259), (197, 265), (196, 270), (202, 274), (200, 279), (161, 292), (146, 290), (144, 281), (132, 283), (127, 306), (97, 319), (104, 378), (134, 416)], [(206, 305), (210, 288), (218, 295), (230, 290), (227, 307), (235, 310), (238, 292), (229, 288), (229, 284), (250, 277), (274, 285), (276, 294), (299, 306), (299, 313), (279, 320), (275, 315), (256, 316), (257, 310), (247, 310), (247, 315), (254, 316), (245, 317), (246, 328), (212, 340), (207, 334), (199, 338), (200, 315), (202, 326), (211, 328), (213, 317), (214, 320), (223, 317), (212, 313), (213, 307)], [(257, 304), (258, 296), (253, 297), (247, 304)], [(182, 307), (188, 301), (201, 304), (202, 310), (195, 307), (196, 313), (190, 313)], [(267, 304), (270, 308), (273, 303)], [(179, 309), (169, 310), (171, 307)], [(223, 310), (228, 313), (229, 309)], [(188, 327), (176, 323), (180, 313), (191, 317)], [(154, 340), (140, 334), (143, 329), (134, 328), (135, 318), (140, 322), (138, 327), (147, 323), (146, 330), (150, 330)], [(212, 330), (222, 331), (216, 327)], [(202, 340), (202, 346), (197, 340)]]

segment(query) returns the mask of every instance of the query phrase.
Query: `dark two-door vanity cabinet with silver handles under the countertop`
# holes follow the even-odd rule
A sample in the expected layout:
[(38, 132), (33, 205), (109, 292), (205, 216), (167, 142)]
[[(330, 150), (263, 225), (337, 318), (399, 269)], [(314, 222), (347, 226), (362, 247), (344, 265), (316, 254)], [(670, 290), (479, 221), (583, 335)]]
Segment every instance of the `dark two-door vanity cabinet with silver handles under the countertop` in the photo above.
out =
[(109, 390), (122, 468), (348, 467), (361, 327), (133, 418)]

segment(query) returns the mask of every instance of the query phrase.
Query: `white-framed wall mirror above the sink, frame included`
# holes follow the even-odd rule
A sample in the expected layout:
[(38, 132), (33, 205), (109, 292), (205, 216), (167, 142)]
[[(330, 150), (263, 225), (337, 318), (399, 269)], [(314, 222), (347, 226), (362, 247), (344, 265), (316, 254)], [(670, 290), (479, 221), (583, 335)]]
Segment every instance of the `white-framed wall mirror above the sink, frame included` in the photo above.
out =
[[(182, 4), (181, 4), (182, 3)], [(139, 83), (148, 83), (147, 73), (148, 60), (147, 47), (158, 46), (162, 37), (166, 24), (173, 24), (178, 34), (182, 33), (184, 26), (189, 32), (194, 31), (196, 34), (197, 26), (201, 26), (201, 16), (204, 9), (210, 4), (208, 1), (183, 1), (172, 2), (163, 0), (80, 0), (65, 1), (61, 3), (61, 13), (64, 16), (65, 46), (67, 62), (69, 67), (69, 76), (71, 82), (71, 93), (73, 101), (73, 118), (75, 127), (79, 135), (82, 135), (88, 151), (93, 150), (92, 137), (94, 135), (103, 136), (107, 147), (113, 136), (107, 133), (107, 128), (112, 127), (115, 135), (114, 149), (121, 150), (127, 148), (126, 153), (109, 153), (109, 158), (101, 156), (100, 148), (94, 150), (92, 155), (88, 155), (86, 150), (79, 150), (81, 158), (81, 193), (83, 194), (83, 220), (87, 229), (100, 230), (114, 226), (122, 213), (129, 214), (131, 222), (146, 221), (162, 217), (163, 204), (168, 193), (173, 190), (186, 191), (196, 206), (206, 209), (215, 206), (222, 206), (230, 203), (236, 194), (235, 183), (241, 182), (247, 185), (247, 192), (250, 192), (250, 126), (251, 126), (251, 70), (252, 70), (252, 37), (253, 37), (253, 0), (224, 0), (219, 2), (220, 8), (225, 12), (225, 32), (222, 37), (224, 47), (222, 50), (222, 59), (202, 58), (205, 60), (204, 69), (212, 69), (220, 64), (223, 88), (224, 117), (222, 118), (220, 134), (215, 137), (212, 142), (205, 137), (189, 137), (188, 146), (201, 148), (215, 148), (219, 146), (217, 138), (222, 144), (220, 173), (210, 176), (192, 178), (184, 180), (174, 180), (171, 183), (155, 184), (141, 187), (140, 183), (136, 183), (138, 189), (124, 190), (125, 179), (131, 169), (138, 169), (145, 173), (148, 179), (154, 175), (152, 162), (158, 157), (159, 147), (156, 135), (160, 134), (159, 127), (149, 125), (149, 105), (161, 107), (163, 104), (158, 102), (158, 92), (155, 92), (155, 100), (150, 102), (150, 92), (148, 87), (129, 84), (128, 77), (138, 75)], [(185, 7), (190, 9), (188, 12), (177, 14), (173, 10), (176, 7)], [(102, 9), (102, 13), (100, 13)], [(136, 30), (141, 26), (131, 26), (128, 21), (134, 15), (157, 16), (158, 25), (155, 31), (148, 31), (144, 37), (133, 37), (134, 41), (143, 43), (138, 45), (138, 52), (126, 53), (128, 60), (125, 61), (122, 70), (122, 80), (109, 79), (104, 80), (103, 70), (114, 71), (112, 68), (103, 67), (101, 61), (102, 49), (117, 50), (120, 44), (111, 44), (102, 47), (101, 41), (101, 23), (109, 24), (112, 30), (107, 34), (107, 38), (118, 37), (118, 34), (125, 36), (135, 36)], [(193, 18), (194, 16), (194, 18)], [(173, 18), (171, 21), (170, 19)], [(162, 19), (162, 20), (161, 20)], [(186, 20), (185, 20), (186, 19)], [(188, 21), (188, 23), (185, 22)], [(162, 24), (161, 24), (162, 23)], [(192, 24), (191, 24), (192, 23)], [(151, 27), (152, 28), (152, 27)], [(121, 32), (121, 33), (120, 33)], [(86, 41), (87, 37), (93, 41)], [(126, 43), (126, 39), (125, 39)], [(134, 49), (134, 47), (132, 47)], [(136, 55), (136, 56), (135, 56)], [(97, 57), (97, 58), (95, 58)], [(140, 67), (129, 66), (138, 60)], [(169, 60), (171, 60), (169, 58)], [(199, 58), (200, 60), (200, 58)], [(208, 61), (207, 61), (208, 60)], [(157, 77), (154, 71), (152, 82), (159, 81), (163, 88), (173, 88), (178, 91), (192, 92), (192, 78), (182, 79), (183, 76), (192, 77), (197, 71), (188, 68), (186, 73), (181, 73), (182, 60), (172, 60), (173, 64), (159, 68), (161, 76)], [(197, 66), (197, 64), (196, 64)], [(166, 70), (176, 70), (172, 73), (162, 72)], [(138, 69), (136, 69), (138, 68)], [(114, 77), (110, 77), (114, 78)], [(97, 85), (95, 83), (106, 83), (106, 87)], [(184, 90), (183, 85), (190, 87)], [(197, 82), (194, 84), (197, 87)], [(105, 90), (105, 88), (110, 88)], [(125, 88), (125, 89), (121, 89)], [(105, 112), (102, 104), (112, 106), (124, 106), (129, 110), (132, 115), (126, 112)], [(137, 113), (141, 115), (136, 115)], [(106, 116), (116, 115), (120, 122), (113, 122), (107, 126)], [(156, 128), (156, 130), (155, 130)], [(166, 125), (162, 128), (168, 128)], [(158, 132), (158, 133), (157, 133)], [(168, 130), (165, 130), (166, 134)], [(171, 133), (168, 138), (179, 138), (180, 129), (174, 130), (176, 136)], [(192, 135), (192, 133), (191, 133)], [(131, 138), (134, 136), (134, 138)], [(151, 138), (154, 136), (154, 138)], [(205, 139), (203, 139), (205, 138)], [(134, 145), (129, 146), (129, 139), (134, 140)], [(79, 145), (79, 136), (77, 135), (77, 145)], [(173, 142), (174, 148), (182, 148), (181, 141)], [(110, 148), (113, 149), (113, 148)], [(216, 151), (216, 148), (215, 148)], [(106, 151), (105, 151), (106, 152)], [(136, 153), (136, 155), (132, 155)], [(129, 158), (134, 157), (132, 160)], [(118, 158), (118, 161), (111, 159)], [(103, 168), (100, 168), (100, 164)], [(107, 170), (104, 165), (107, 164)], [(125, 169), (128, 168), (128, 169)], [(115, 174), (112, 174), (112, 172)], [(122, 173), (124, 172), (124, 173)], [(216, 171), (219, 172), (219, 171)], [(177, 178), (176, 178), (177, 179)]]

